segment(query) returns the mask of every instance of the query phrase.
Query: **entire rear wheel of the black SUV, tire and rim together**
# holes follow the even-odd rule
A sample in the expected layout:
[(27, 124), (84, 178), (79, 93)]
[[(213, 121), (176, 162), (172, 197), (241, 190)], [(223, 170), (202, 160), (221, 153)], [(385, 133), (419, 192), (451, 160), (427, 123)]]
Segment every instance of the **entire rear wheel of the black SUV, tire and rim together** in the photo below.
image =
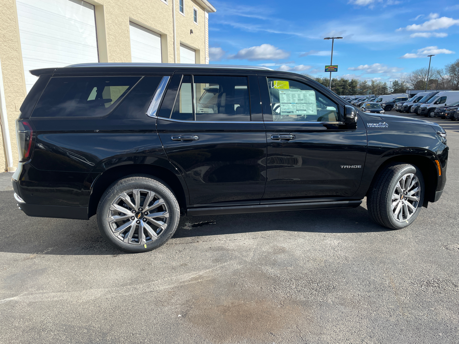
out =
[(162, 180), (146, 174), (126, 176), (112, 183), (97, 207), (102, 237), (124, 252), (156, 249), (174, 235), (179, 219), (179, 203), (172, 190)]

